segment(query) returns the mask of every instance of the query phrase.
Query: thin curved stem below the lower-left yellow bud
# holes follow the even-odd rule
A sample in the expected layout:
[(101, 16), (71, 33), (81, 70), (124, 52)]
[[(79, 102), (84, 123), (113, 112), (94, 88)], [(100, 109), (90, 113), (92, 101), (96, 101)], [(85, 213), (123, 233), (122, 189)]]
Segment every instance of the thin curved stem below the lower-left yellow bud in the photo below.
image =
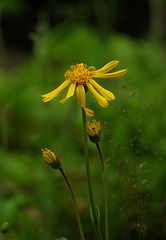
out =
[(83, 229), (82, 229), (82, 224), (81, 224), (81, 220), (80, 220), (80, 216), (79, 216), (79, 212), (78, 212), (77, 201), (76, 201), (76, 198), (75, 198), (75, 195), (74, 195), (71, 183), (70, 183), (69, 179), (67, 178), (67, 175), (65, 174), (63, 169), (59, 168), (59, 170), (62, 173), (62, 176), (64, 177), (65, 182), (66, 182), (66, 184), (67, 184), (67, 186), (69, 188), (69, 191), (71, 193), (71, 197), (72, 197), (74, 208), (75, 208), (75, 212), (76, 212), (76, 218), (77, 218), (77, 223), (78, 223), (78, 228), (79, 228), (79, 231), (80, 231), (81, 239), (85, 240)]

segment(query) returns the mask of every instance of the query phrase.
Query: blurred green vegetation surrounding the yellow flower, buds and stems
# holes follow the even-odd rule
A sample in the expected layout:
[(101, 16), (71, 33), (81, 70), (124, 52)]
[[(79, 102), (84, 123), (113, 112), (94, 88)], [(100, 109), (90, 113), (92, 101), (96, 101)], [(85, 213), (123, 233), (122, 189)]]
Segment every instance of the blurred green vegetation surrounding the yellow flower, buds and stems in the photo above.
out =
[[(165, 239), (165, 1), (145, 1), (140, 22), (130, 1), (128, 9), (116, 0), (50, 1), (50, 8), (41, 1), (35, 4), (37, 15), (30, 2), (0, 3), (0, 225), (10, 223), (6, 239), (79, 239), (70, 195), (60, 173), (45, 164), (44, 147), (63, 160), (85, 236), (95, 239), (81, 109), (75, 97), (59, 103), (65, 91), (49, 103), (40, 95), (55, 89), (72, 64), (100, 68), (115, 59), (120, 60), (116, 69), (128, 68), (128, 73), (99, 82), (116, 100), (102, 109), (87, 94), (87, 106), (102, 123), (104, 158), (110, 159), (110, 239), (140, 239), (140, 232), (145, 239)], [(19, 31), (11, 22), (24, 23), (27, 9), (32, 9), (31, 24), (26, 30), (20, 24)], [(95, 146), (89, 143), (89, 148), (95, 198), (103, 209), (100, 162)], [(101, 224), (103, 219), (101, 211)]]

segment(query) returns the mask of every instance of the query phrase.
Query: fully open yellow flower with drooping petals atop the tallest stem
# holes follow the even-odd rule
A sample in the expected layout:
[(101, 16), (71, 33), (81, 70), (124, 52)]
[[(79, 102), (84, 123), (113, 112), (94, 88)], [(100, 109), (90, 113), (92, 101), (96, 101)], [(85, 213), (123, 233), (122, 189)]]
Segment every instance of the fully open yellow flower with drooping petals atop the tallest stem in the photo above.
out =
[[(108, 73), (116, 67), (118, 63), (119, 61), (117, 60), (109, 62), (98, 70), (96, 70), (95, 67), (88, 67), (84, 63), (72, 65), (65, 73), (66, 80), (52, 92), (42, 95), (43, 102), (49, 102), (53, 98), (56, 98), (60, 92), (70, 84), (66, 97), (60, 102), (64, 104), (68, 98), (74, 95), (76, 89), (78, 103), (85, 110), (87, 116), (94, 116), (94, 111), (86, 108), (85, 88), (87, 87), (91, 91), (100, 106), (107, 108), (108, 100), (114, 100), (115, 96), (112, 92), (101, 87), (93, 80), (93, 78), (117, 78), (124, 75), (127, 72), (127, 69)], [(101, 95), (95, 90), (95, 88)]]

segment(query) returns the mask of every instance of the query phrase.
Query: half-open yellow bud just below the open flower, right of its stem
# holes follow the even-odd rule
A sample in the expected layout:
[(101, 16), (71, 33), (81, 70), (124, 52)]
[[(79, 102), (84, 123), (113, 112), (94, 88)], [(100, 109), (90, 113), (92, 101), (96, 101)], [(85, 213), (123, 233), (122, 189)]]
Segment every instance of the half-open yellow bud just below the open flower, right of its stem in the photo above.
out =
[(98, 143), (101, 137), (101, 127), (100, 122), (93, 119), (92, 123), (88, 122), (86, 124), (87, 134), (93, 143)]

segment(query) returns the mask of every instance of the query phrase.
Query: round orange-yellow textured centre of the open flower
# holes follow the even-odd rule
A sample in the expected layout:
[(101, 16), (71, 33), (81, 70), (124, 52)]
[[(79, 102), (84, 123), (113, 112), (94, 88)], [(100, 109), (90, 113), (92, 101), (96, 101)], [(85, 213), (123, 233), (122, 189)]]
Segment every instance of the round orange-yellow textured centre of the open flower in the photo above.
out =
[(86, 64), (80, 63), (72, 65), (70, 70), (67, 70), (65, 77), (74, 84), (86, 85), (92, 79), (94, 67), (87, 67)]

